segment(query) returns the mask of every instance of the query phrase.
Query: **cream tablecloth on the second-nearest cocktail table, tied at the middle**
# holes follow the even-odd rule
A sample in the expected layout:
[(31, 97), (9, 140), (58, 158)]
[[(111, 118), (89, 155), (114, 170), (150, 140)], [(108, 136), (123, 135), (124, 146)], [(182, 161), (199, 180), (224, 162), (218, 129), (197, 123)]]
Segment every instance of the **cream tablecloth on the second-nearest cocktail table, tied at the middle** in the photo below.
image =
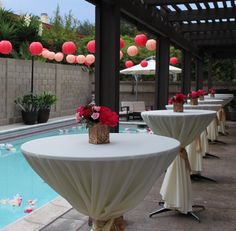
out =
[[(215, 116), (214, 111), (171, 110), (147, 111), (141, 115), (155, 134), (178, 139), (186, 147), (200, 135)], [(161, 191), (164, 206), (178, 209), (182, 213), (192, 211), (192, 189), (190, 172), (185, 160), (178, 155), (167, 169)]]

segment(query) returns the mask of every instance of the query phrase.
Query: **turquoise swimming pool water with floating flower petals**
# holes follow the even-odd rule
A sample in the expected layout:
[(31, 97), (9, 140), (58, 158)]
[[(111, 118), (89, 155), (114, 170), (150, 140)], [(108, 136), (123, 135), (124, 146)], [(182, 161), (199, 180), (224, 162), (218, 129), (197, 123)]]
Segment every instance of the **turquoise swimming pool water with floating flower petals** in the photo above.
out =
[[(29, 166), (20, 146), (32, 139), (87, 132), (83, 127), (56, 129), (44, 134), (19, 138), (0, 144), (0, 229), (54, 199), (58, 194)], [(120, 132), (145, 132), (144, 129), (120, 127)], [(10, 144), (10, 145), (9, 145)]]

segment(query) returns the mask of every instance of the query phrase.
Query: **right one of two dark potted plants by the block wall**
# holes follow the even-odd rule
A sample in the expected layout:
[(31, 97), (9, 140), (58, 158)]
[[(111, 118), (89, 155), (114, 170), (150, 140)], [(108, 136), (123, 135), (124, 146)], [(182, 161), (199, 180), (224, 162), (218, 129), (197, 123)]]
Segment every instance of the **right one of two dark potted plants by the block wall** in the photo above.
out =
[(50, 116), (51, 106), (56, 103), (57, 97), (49, 92), (44, 91), (38, 96), (38, 101), (38, 123), (46, 123)]

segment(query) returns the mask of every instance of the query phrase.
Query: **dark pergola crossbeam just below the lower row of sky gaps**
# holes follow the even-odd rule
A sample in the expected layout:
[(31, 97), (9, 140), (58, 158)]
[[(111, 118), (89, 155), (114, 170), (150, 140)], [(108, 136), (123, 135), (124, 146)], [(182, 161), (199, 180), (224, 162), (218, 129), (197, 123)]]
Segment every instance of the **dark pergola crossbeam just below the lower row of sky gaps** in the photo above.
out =
[(235, 22), (225, 23), (201, 23), (201, 24), (185, 24), (180, 27), (183, 33), (186, 32), (208, 32), (208, 31), (223, 31), (223, 30), (236, 30)]

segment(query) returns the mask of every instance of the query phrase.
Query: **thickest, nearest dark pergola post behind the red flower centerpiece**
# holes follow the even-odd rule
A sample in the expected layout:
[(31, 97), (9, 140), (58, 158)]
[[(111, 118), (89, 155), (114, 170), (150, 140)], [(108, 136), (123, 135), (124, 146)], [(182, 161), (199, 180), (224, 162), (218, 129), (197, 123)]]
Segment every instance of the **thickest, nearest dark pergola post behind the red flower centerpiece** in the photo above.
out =
[(96, 5), (95, 102), (119, 112), (119, 4)]

